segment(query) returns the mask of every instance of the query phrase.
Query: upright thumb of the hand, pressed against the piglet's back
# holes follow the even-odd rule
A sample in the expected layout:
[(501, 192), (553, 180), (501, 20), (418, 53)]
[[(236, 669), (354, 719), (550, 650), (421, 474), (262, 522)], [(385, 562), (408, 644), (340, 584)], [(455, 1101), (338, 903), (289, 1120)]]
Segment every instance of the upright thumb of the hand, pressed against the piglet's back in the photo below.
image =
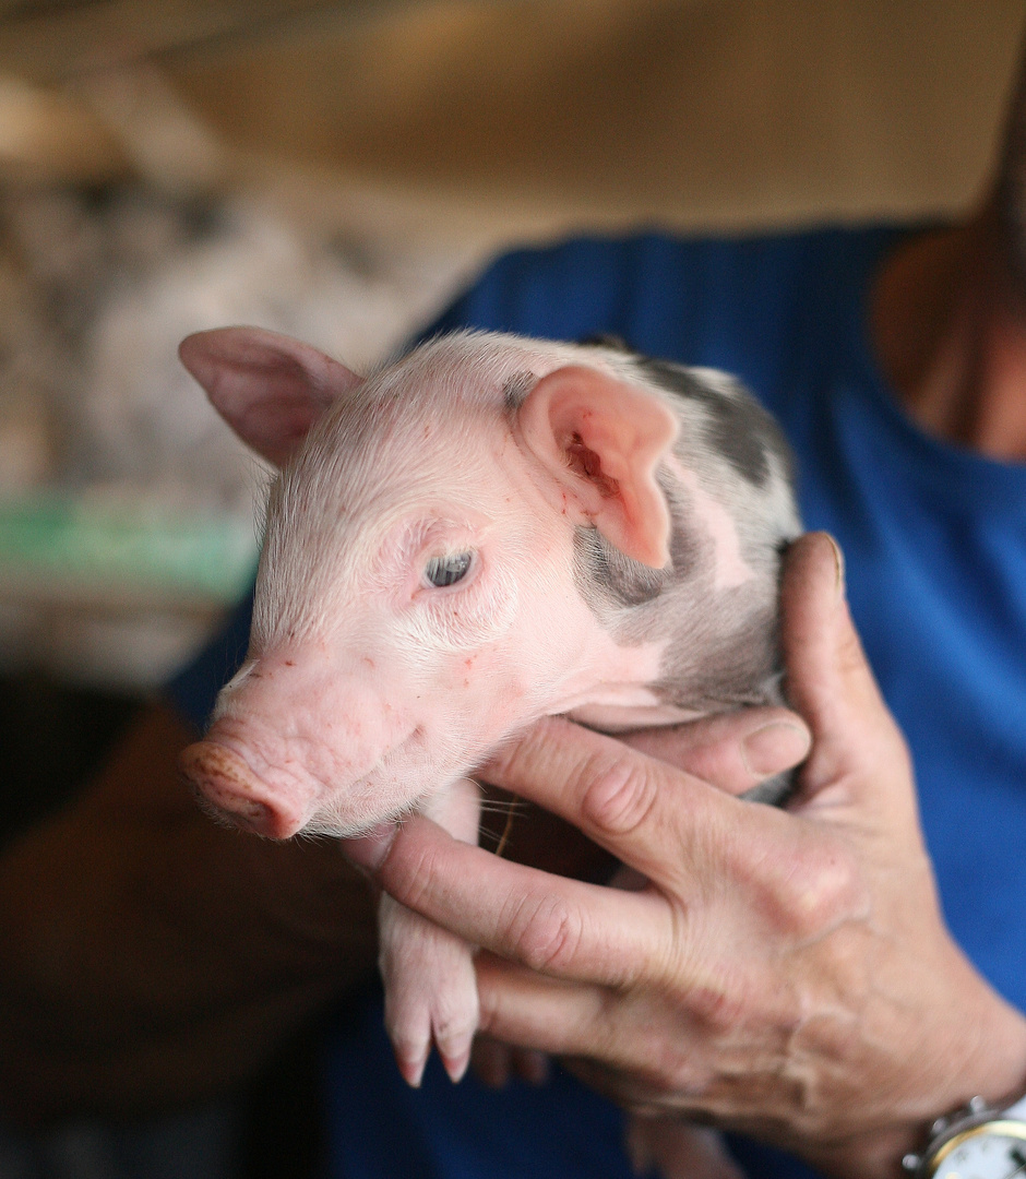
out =
[(879, 791), (908, 753), (876, 686), (844, 599), (844, 562), (824, 532), (798, 538), (784, 562), (781, 647), (791, 706), (813, 731), (802, 797), (827, 786)]

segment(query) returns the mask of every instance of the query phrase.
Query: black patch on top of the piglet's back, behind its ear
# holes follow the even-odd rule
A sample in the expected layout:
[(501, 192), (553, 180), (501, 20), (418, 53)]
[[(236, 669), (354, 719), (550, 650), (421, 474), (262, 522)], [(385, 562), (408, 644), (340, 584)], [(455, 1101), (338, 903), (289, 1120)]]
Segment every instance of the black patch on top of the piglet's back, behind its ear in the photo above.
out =
[(706, 409), (710, 444), (743, 479), (764, 487), (770, 476), (771, 454), (781, 457), (790, 474), (790, 450), (780, 428), (743, 386), (731, 381), (730, 390), (725, 391), (670, 361), (640, 357), (638, 364), (645, 376), (667, 393), (688, 397)]

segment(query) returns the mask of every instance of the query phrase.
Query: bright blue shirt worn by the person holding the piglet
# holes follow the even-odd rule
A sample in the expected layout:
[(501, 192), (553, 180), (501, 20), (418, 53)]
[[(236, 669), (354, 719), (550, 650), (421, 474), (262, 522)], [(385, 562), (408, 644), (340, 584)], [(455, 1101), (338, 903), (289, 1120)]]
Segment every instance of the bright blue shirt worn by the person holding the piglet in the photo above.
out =
[[(866, 335), (867, 289), (895, 241), (884, 228), (520, 251), (434, 330), (613, 332), (656, 356), (737, 373), (777, 415), (797, 454), (805, 522), (844, 548), (856, 624), (912, 745), (948, 922), (1022, 1008), (1026, 467), (939, 443), (896, 407)], [(376, 1009), (338, 1034), (331, 1061), (336, 1179), (631, 1174), (619, 1115), (565, 1075), (546, 1089), (492, 1093), (434, 1071), (410, 1093)], [(754, 1179), (809, 1174), (752, 1144), (736, 1153)]]

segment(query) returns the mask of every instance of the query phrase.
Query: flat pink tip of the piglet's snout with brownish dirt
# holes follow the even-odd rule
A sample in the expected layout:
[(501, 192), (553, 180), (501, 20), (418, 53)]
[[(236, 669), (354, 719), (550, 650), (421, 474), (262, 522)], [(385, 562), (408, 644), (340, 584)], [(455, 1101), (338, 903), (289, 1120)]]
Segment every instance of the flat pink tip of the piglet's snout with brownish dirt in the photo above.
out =
[(257, 835), (287, 839), (303, 825), (304, 816), (275, 796), (226, 745), (200, 740), (183, 750), (178, 765), (213, 812)]

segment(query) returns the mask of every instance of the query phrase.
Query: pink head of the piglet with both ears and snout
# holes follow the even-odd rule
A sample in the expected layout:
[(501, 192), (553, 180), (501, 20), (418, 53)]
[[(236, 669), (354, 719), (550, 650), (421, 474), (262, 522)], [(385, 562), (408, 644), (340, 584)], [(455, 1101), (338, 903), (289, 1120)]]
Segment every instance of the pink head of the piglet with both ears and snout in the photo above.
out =
[(672, 566), (678, 417), (626, 360), (463, 334), (361, 378), (249, 328), (182, 358), (279, 468), (248, 658), (183, 755), (217, 814), (355, 835), (539, 716), (658, 704), (665, 634), (618, 633), (581, 555), (598, 536), (650, 598)]

